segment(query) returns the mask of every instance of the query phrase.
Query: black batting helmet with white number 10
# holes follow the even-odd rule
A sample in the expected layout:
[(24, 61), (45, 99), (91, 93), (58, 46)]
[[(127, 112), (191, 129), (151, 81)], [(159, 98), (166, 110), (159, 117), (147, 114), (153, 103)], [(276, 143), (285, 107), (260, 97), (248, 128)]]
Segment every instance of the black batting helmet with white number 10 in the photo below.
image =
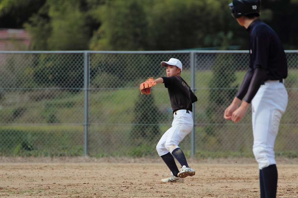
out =
[(229, 7), (234, 18), (252, 13), (260, 15), (261, 0), (233, 0)]

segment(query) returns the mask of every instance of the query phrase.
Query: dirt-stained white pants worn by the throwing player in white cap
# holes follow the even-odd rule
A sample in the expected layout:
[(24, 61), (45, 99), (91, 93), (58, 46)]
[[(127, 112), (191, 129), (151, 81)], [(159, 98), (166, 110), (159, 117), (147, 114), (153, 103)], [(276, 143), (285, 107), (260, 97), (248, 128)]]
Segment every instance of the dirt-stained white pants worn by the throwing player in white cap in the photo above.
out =
[(159, 156), (173, 152), (179, 148), (178, 144), (183, 138), (193, 129), (192, 112), (186, 113), (185, 109), (176, 111), (172, 127), (169, 128), (156, 145), (156, 150)]

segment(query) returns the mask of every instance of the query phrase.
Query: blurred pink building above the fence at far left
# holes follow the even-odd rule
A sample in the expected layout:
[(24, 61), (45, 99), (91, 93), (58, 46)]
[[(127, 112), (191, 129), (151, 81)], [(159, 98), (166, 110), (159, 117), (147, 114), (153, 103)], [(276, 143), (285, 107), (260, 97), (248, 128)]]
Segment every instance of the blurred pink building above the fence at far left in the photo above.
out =
[(0, 51), (26, 51), (31, 36), (24, 29), (0, 29)]

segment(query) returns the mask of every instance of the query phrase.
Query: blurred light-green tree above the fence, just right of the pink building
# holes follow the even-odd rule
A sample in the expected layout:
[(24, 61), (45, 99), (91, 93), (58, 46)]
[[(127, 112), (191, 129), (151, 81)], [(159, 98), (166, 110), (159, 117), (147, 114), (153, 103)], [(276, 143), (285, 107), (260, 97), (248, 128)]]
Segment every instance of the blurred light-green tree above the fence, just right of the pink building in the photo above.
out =
[(86, 50), (100, 22), (92, 17), (101, 0), (47, 0), (24, 24), (33, 50)]

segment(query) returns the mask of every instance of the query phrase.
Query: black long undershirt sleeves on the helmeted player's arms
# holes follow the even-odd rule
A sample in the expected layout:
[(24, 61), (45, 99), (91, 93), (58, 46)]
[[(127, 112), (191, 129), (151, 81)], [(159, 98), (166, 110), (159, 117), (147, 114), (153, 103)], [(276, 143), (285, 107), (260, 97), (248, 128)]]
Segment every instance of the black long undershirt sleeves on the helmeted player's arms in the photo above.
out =
[(256, 95), (261, 84), (264, 82), (265, 77), (266, 70), (264, 68), (257, 67), (254, 70), (249, 68), (236, 97), (242, 100), (245, 96), (243, 100), (247, 103), (251, 103), (252, 98)]

